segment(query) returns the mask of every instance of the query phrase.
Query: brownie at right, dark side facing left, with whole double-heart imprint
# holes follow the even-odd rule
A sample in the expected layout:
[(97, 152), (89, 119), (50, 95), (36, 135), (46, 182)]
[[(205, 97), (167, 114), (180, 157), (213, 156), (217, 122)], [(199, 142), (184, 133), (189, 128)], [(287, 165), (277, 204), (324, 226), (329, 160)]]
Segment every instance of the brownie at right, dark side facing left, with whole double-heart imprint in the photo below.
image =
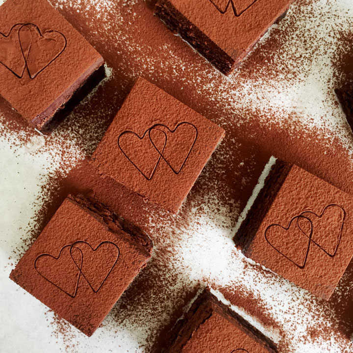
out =
[(277, 160), (234, 241), (245, 256), (328, 300), (353, 255), (353, 197)]

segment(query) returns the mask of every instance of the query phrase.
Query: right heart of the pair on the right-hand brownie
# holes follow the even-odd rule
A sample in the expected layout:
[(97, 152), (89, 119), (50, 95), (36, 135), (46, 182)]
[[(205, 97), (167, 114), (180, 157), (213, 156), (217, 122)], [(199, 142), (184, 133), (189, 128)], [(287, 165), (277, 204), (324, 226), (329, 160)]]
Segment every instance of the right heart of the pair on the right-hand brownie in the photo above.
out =
[[(320, 214), (313, 211), (304, 211), (301, 215), (311, 221), (313, 227), (311, 241), (326, 252), (328, 256), (333, 257), (341, 242), (342, 229), (346, 218), (345, 210), (337, 204), (329, 204)], [(298, 227), (303, 230), (300, 221), (298, 221)]]

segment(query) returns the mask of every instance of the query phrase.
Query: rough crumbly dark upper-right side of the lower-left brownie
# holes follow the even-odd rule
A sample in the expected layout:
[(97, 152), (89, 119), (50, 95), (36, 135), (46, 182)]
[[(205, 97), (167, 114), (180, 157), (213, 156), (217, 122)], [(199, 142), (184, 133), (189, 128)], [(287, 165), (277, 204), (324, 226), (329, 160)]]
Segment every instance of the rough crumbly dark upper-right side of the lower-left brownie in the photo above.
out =
[(92, 214), (100, 222), (104, 223), (113, 233), (120, 233), (123, 231), (126, 236), (128, 236), (129, 240), (140, 249), (140, 251), (144, 252), (147, 257), (151, 257), (153, 242), (148, 234), (139, 227), (127, 222), (124, 218), (118, 216), (112, 209), (93, 197), (69, 195), (68, 199)]

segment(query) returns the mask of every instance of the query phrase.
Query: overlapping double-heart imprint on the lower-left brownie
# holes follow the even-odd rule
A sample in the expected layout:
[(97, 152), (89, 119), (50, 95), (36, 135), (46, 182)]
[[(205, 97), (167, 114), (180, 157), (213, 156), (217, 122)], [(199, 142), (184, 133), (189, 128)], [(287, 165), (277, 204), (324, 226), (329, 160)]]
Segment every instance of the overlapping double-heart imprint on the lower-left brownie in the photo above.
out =
[(65, 245), (57, 257), (43, 253), (34, 261), (36, 271), (55, 287), (75, 298), (80, 277), (97, 293), (120, 256), (119, 247), (109, 241), (96, 249), (85, 241)]

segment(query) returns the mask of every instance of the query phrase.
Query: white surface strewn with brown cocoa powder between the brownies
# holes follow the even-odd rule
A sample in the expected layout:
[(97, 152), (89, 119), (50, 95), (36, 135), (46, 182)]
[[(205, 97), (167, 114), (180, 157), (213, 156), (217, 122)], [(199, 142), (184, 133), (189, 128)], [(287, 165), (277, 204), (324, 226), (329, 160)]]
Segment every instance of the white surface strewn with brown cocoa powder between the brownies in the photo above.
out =
[[(107, 78), (49, 137), (35, 135), (0, 101), (1, 319), (9, 347), (38, 342), (53, 352), (160, 352), (184, 305), (206, 282), (260, 323), (280, 352), (351, 352), (352, 264), (325, 302), (249, 264), (231, 238), (271, 154), (353, 193), (352, 133), (334, 94), (351, 71), (352, 5), (294, 1), (287, 17), (224, 77), (153, 16), (149, 1), (51, 2), (106, 60)], [(175, 216), (141, 208), (120, 184), (81, 162), (138, 76), (226, 130)], [(136, 223), (155, 244), (146, 269), (89, 340), (45, 315), (45, 306), (8, 279), (55, 209), (79, 192)]]

